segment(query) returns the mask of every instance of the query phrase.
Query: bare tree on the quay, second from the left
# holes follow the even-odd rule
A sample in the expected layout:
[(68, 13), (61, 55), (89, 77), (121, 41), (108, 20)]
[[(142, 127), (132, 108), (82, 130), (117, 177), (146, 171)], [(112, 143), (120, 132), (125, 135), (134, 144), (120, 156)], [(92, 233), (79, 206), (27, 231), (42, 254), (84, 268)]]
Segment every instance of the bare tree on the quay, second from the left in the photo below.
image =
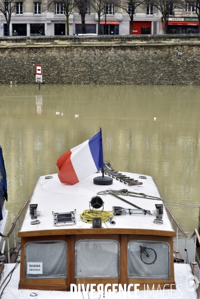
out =
[(66, 35), (69, 35), (69, 15), (74, 8), (74, 0), (46, 0), (47, 9), (54, 7), (55, 11), (66, 15)]

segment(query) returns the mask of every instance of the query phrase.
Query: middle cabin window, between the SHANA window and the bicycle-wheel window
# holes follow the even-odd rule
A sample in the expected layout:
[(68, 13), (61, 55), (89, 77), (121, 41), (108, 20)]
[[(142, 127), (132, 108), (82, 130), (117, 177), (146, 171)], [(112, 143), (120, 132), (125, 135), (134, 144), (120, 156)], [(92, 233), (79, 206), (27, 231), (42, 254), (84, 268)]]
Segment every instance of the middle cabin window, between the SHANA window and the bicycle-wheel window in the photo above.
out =
[(115, 240), (80, 240), (75, 246), (76, 277), (119, 277), (119, 243)]

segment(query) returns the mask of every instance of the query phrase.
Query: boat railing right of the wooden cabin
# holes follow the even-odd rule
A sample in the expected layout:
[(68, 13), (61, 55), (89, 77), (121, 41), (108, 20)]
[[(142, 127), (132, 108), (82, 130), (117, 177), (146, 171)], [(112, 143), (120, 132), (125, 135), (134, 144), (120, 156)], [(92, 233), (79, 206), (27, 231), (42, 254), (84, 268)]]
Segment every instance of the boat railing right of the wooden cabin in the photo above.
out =
[[(184, 263), (186, 263), (187, 239), (188, 239), (188, 238), (193, 238), (193, 237), (195, 237), (194, 256), (193, 256), (193, 262), (192, 262), (192, 264), (193, 264), (193, 265), (197, 264), (197, 263), (196, 263), (196, 256), (197, 256), (197, 258), (198, 258), (198, 255), (197, 255), (197, 252), (196, 252), (196, 243), (197, 243), (197, 240), (198, 240), (198, 242), (199, 242), (199, 244), (200, 244), (200, 234), (199, 234), (198, 230), (195, 229), (194, 232), (192, 233), (192, 235), (188, 235), (188, 234), (186, 234), (186, 233), (184, 232), (184, 230), (182, 229), (181, 225), (179, 224), (179, 222), (177, 221), (177, 219), (175, 218), (175, 216), (173, 215), (173, 213), (171, 212), (171, 210), (170, 210), (170, 208), (168, 207), (168, 205), (167, 205), (165, 202), (164, 202), (164, 205), (165, 205), (165, 207), (166, 207), (166, 209), (167, 209), (169, 215), (172, 217), (172, 218), (171, 218), (171, 222), (172, 222), (172, 224), (173, 224), (173, 220), (174, 220), (175, 224), (177, 225), (177, 236), (176, 236), (176, 248), (177, 248), (177, 250), (176, 250), (176, 252), (179, 252), (179, 250), (178, 250), (179, 230), (180, 230), (180, 232), (186, 237)], [(199, 259), (199, 258), (198, 258), (198, 259)]]

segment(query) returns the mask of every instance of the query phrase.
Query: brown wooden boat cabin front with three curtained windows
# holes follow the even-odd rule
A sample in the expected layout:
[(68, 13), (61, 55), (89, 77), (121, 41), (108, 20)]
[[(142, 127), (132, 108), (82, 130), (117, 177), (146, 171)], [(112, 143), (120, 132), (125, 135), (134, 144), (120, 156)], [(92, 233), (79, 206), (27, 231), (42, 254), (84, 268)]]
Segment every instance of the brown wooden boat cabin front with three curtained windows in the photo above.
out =
[[(70, 291), (71, 284), (174, 288), (173, 237), (58, 235), (21, 238), (19, 289)], [(131, 289), (133, 290), (133, 289)]]

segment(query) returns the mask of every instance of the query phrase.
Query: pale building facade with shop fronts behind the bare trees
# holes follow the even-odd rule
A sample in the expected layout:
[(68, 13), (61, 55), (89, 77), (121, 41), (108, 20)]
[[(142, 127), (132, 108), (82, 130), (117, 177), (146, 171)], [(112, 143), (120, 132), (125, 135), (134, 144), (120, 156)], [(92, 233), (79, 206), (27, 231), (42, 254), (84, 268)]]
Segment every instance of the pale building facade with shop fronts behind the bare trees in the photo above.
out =
[[(127, 9), (128, 10), (128, 9)], [(106, 14), (106, 32), (105, 32)], [(98, 15), (92, 7), (88, 7), (85, 16), (86, 33), (96, 33)], [(5, 17), (0, 13), (1, 36), (7, 36)], [(194, 5), (187, 3), (186, 9), (171, 11), (168, 33), (199, 33), (199, 19)], [(19, 36), (66, 35), (66, 16), (60, 3), (55, 2), (51, 9), (46, 9), (45, 3), (38, 0), (17, 2), (11, 15), (10, 35), (14, 30)], [(147, 4), (146, 7), (136, 7), (134, 13), (133, 34), (162, 34), (164, 21), (158, 9)], [(102, 12), (100, 34), (118, 35), (130, 34), (131, 22), (129, 13), (112, 2), (107, 3)], [(43, 32), (42, 32), (43, 31)], [(69, 15), (69, 35), (81, 33), (81, 16), (77, 8)]]

